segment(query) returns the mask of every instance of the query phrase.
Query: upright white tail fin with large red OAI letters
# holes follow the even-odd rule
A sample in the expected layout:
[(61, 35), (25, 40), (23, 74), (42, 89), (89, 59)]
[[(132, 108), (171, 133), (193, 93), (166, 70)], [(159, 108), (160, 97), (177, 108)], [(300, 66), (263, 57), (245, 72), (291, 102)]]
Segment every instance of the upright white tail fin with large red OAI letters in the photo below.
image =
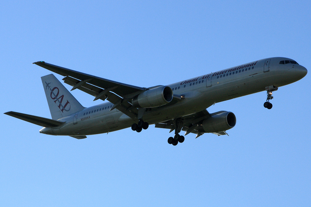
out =
[(52, 119), (69, 116), (85, 109), (53, 74), (41, 77)]

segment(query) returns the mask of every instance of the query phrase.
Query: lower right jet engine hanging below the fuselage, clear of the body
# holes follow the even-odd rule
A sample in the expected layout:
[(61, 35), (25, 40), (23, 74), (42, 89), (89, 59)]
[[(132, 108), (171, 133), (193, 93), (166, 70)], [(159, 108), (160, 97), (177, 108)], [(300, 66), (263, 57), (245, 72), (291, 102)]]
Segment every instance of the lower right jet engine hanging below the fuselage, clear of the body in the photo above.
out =
[(233, 128), (237, 123), (234, 113), (225, 111), (208, 117), (202, 123), (206, 133), (221, 132)]

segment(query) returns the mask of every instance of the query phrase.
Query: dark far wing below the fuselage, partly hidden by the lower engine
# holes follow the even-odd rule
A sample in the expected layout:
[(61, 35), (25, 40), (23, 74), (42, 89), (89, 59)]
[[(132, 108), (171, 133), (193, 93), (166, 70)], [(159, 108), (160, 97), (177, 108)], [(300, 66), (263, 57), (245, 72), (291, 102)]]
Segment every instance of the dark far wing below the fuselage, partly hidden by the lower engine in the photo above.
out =
[[(181, 130), (186, 131), (185, 136), (189, 133), (194, 133), (194, 134), (196, 134), (195, 138), (198, 138), (199, 136), (201, 136), (205, 133), (203, 131), (200, 131), (200, 125), (202, 124), (203, 120), (207, 119), (210, 116), (213, 116), (213, 115), (216, 115), (216, 114), (222, 113), (222, 112), (225, 112), (225, 111), (218, 111), (216, 113), (210, 114), (207, 110), (203, 110), (203, 111), (199, 111), (197, 113), (193, 113), (193, 114), (184, 116), (181, 118), (182, 125), (183, 125)], [(172, 132), (175, 129), (173, 120), (157, 123), (157, 124), (155, 124), (155, 127), (171, 129), (170, 132)], [(228, 135), (225, 131), (214, 132), (213, 134), (216, 134), (218, 136)]]

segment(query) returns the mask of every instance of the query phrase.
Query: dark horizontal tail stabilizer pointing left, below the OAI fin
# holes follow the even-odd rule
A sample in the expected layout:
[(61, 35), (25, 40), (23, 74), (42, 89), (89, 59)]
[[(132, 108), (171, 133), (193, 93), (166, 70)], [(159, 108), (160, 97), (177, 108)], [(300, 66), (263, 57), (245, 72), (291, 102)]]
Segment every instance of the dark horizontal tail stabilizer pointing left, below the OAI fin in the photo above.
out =
[(58, 126), (65, 123), (65, 122), (59, 122), (59, 121), (56, 121), (53, 119), (43, 118), (40, 116), (33, 116), (33, 115), (25, 114), (25, 113), (18, 113), (15, 111), (8, 111), (4, 114), (9, 115), (9, 116), (13, 116), (17, 119), (21, 119), (21, 120), (24, 120), (26, 122), (33, 123), (35, 125), (39, 125), (41, 127), (58, 127)]

